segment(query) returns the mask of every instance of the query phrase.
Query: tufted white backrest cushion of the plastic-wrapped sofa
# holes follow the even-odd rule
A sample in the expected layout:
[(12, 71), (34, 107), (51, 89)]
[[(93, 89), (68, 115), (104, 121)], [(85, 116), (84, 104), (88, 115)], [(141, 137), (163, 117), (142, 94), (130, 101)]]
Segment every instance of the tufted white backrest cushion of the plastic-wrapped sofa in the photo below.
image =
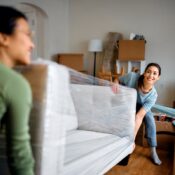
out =
[(71, 85), (78, 116), (78, 128), (120, 137), (134, 137), (136, 91), (120, 86), (118, 93), (111, 87)]

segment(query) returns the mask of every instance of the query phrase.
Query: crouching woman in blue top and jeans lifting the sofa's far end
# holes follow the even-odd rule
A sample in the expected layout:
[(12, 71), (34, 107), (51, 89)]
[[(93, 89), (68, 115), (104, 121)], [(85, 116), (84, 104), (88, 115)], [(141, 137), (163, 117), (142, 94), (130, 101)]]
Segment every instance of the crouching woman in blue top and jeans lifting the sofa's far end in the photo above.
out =
[(120, 84), (137, 90), (135, 136), (144, 119), (147, 140), (151, 147), (151, 158), (157, 165), (160, 165), (161, 161), (156, 153), (156, 125), (151, 108), (157, 100), (157, 91), (154, 88), (154, 84), (159, 80), (160, 75), (160, 66), (157, 63), (150, 63), (147, 65), (142, 75), (131, 72), (119, 78)]

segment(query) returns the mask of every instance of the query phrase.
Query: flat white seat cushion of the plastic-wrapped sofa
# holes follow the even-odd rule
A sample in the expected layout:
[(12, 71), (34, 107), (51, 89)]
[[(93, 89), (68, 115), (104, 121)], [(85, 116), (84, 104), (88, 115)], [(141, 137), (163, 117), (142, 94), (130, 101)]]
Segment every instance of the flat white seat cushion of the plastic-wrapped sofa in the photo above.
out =
[(67, 133), (64, 175), (104, 174), (133, 150), (127, 137), (75, 130)]

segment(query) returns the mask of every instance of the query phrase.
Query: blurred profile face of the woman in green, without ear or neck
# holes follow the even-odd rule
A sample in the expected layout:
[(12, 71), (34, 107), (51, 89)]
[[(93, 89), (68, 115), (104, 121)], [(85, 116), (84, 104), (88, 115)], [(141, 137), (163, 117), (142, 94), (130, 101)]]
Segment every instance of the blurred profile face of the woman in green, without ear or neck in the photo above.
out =
[(34, 44), (28, 22), (25, 19), (17, 20), (13, 34), (7, 36), (6, 46), (12, 65), (27, 65), (30, 63)]

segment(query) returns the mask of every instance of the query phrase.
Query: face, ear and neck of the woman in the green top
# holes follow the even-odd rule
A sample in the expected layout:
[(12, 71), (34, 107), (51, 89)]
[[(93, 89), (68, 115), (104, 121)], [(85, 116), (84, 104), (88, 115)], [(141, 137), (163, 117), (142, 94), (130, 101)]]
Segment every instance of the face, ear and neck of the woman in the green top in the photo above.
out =
[(12, 34), (0, 34), (0, 43), (4, 46), (1, 62), (4, 61), (9, 67), (30, 63), (30, 54), (34, 45), (28, 23), (24, 18), (17, 19)]

